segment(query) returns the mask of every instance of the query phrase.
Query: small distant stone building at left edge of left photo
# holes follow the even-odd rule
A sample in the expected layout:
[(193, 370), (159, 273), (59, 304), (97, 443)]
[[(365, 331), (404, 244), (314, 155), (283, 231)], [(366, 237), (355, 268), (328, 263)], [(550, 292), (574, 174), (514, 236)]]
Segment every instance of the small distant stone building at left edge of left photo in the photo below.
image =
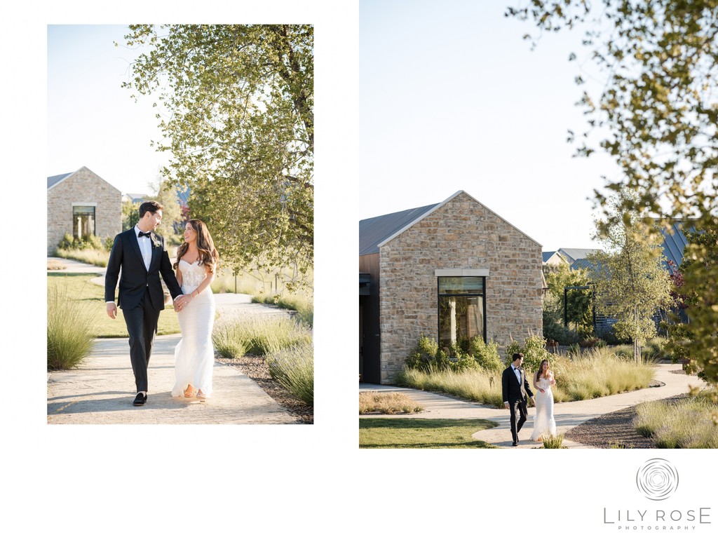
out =
[(47, 254), (65, 233), (114, 237), (122, 230), (122, 193), (86, 167), (47, 177)]

